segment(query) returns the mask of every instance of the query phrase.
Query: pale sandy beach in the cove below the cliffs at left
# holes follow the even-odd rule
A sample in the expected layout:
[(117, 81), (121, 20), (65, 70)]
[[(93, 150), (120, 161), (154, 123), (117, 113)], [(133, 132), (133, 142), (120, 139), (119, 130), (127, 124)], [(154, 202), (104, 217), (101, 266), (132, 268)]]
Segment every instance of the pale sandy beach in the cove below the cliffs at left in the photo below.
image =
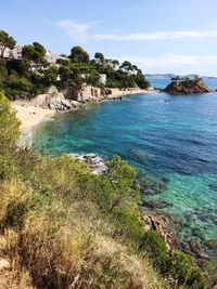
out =
[(22, 132), (30, 131), (39, 122), (55, 115), (55, 110), (24, 104), (22, 102), (11, 102), (11, 106), (16, 110), (16, 116), (22, 122)]

